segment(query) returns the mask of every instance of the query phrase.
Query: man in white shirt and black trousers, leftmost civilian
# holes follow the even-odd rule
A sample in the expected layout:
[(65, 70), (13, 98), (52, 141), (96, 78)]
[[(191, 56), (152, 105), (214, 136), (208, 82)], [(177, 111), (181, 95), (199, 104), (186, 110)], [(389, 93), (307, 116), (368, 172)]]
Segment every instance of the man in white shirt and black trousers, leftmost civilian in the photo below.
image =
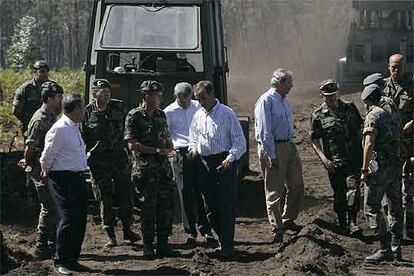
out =
[(86, 150), (79, 132), (85, 105), (80, 95), (66, 95), (62, 100), (62, 108), (62, 117), (46, 134), (40, 165), (41, 176), (49, 178), (49, 191), (59, 214), (55, 272), (71, 275), (72, 271), (88, 270), (78, 263), (88, 203), (83, 174), (88, 169)]

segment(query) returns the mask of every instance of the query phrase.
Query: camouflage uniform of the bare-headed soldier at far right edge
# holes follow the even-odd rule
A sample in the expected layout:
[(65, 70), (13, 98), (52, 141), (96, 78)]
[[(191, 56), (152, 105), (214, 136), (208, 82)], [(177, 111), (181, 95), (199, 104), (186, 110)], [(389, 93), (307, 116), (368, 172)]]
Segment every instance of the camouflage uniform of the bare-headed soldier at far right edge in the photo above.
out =
[[(413, 119), (413, 91), (414, 82), (412, 76), (406, 75), (400, 82), (392, 81), (391, 77), (384, 79), (386, 82), (383, 93), (395, 102), (400, 111), (402, 127)], [(403, 134), (401, 136), (401, 159), (404, 162), (403, 181), (406, 182), (410, 178), (410, 157), (413, 156), (413, 132)], [(411, 179), (412, 179), (411, 175)], [(406, 189), (408, 187), (405, 187)], [(414, 187), (413, 187), (414, 188)]]

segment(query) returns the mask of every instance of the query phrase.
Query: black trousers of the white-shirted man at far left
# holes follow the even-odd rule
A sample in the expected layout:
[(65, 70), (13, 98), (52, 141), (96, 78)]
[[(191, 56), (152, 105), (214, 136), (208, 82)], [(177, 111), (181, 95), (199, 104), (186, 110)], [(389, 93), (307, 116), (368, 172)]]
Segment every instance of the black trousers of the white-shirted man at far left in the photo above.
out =
[(59, 214), (55, 264), (67, 265), (79, 259), (86, 230), (87, 186), (82, 173), (52, 171), (49, 191)]

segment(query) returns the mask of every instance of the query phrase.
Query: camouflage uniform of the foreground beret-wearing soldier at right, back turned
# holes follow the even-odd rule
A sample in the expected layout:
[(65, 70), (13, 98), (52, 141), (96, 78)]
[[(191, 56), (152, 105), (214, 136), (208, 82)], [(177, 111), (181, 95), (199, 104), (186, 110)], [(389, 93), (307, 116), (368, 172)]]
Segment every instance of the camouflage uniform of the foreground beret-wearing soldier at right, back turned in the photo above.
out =
[(399, 246), (403, 227), (401, 183), (399, 181), (399, 146), (391, 125), (392, 116), (382, 108), (372, 106), (365, 117), (363, 136), (375, 137), (374, 159), (378, 171), (368, 174), (364, 190), (364, 212), (369, 225), (387, 240), (387, 226), (382, 214), (381, 201), (386, 194), (390, 203), (390, 228), (393, 246)]

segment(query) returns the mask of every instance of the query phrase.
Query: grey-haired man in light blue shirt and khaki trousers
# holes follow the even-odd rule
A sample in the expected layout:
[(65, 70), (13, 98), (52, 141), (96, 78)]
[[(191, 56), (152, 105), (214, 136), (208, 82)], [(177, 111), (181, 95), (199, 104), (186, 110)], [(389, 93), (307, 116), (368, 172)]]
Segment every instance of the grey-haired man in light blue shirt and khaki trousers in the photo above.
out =
[[(301, 209), (304, 191), (301, 160), (292, 141), (295, 137), (293, 114), (286, 98), (293, 87), (292, 72), (277, 69), (270, 85), (255, 105), (255, 137), (273, 241), (282, 242), (286, 229), (300, 230), (294, 220)], [(281, 206), (282, 202), (285, 206)]]

